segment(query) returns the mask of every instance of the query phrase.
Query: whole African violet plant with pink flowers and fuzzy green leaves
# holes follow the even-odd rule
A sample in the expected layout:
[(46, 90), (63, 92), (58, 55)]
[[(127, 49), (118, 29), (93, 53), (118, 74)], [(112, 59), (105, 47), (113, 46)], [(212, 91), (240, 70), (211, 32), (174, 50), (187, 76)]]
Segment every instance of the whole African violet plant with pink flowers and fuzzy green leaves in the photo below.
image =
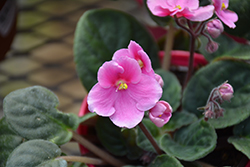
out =
[[(87, 11), (76, 27), (74, 56), (91, 113), (58, 111), (58, 98), (41, 86), (11, 92), (0, 120), (1, 167), (196, 167), (201, 166), (196, 161), (224, 148), (221, 139), (250, 158), (249, 2), (147, 0), (145, 5), (157, 23), (170, 25), (167, 38), (173, 28), (189, 34), (185, 82), (162, 68), (169, 59), (160, 63), (158, 43), (134, 17), (111, 9)], [(225, 27), (225, 35), (221, 21), (234, 30)], [(194, 71), (194, 52), (209, 64)], [(91, 118), (102, 149), (75, 132)], [(223, 136), (224, 131), (230, 133)], [(71, 139), (99, 158), (62, 153), (60, 146)]]

